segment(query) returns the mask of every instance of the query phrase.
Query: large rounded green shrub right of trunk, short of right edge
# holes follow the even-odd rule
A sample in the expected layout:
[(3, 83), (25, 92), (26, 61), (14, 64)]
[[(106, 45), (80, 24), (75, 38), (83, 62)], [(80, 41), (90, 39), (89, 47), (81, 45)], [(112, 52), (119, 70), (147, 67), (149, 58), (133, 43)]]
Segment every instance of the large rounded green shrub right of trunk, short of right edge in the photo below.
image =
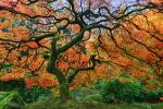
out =
[(121, 83), (118, 80), (99, 85), (106, 104), (145, 101), (145, 88), (139, 83)]

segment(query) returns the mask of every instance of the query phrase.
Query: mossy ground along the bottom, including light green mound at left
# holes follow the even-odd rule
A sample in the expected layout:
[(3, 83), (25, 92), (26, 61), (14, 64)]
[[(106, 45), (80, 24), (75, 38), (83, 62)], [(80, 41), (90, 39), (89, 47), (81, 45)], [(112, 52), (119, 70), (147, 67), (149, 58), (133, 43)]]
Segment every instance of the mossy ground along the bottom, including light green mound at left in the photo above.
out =
[[(13, 104), (12, 104), (13, 102)], [(12, 108), (16, 105), (17, 108)], [(25, 107), (24, 107), (25, 106)], [(17, 92), (0, 92), (0, 109), (163, 109), (163, 102), (103, 104), (93, 100), (61, 100), (59, 96), (25, 104)]]

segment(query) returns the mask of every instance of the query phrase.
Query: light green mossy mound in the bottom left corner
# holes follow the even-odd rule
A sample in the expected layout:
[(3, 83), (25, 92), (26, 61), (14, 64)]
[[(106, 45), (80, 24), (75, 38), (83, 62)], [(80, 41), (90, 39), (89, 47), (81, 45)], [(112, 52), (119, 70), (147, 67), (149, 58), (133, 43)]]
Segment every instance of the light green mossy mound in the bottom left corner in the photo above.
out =
[(24, 109), (24, 106), (17, 92), (0, 92), (0, 109)]

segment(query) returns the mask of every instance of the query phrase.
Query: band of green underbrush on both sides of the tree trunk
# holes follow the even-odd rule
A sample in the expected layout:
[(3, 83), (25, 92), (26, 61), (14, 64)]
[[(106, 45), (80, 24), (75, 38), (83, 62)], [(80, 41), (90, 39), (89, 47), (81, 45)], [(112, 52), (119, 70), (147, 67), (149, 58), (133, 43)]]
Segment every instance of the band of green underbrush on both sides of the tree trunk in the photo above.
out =
[[(26, 87), (23, 80), (21, 81), (0, 81), (0, 92), (16, 90), (26, 104), (52, 104), (50, 100), (46, 100), (53, 96), (50, 89), (42, 87)], [(71, 90), (72, 101), (74, 102), (90, 102), (90, 104), (155, 104), (161, 102), (163, 97), (163, 89), (150, 90), (142, 86), (140, 82), (122, 83), (120, 80), (114, 78), (112, 81), (101, 80), (91, 84), (90, 87), (83, 89)], [(55, 100), (55, 104), (60, 104)], [(48, 101), (48, 102), (47, 102)], [(62, 102), (62, 101), (61, 101)], [(68, 102), (66, 102), (68, 104)], [(71, 102), (68, 105), (72, 105)]]

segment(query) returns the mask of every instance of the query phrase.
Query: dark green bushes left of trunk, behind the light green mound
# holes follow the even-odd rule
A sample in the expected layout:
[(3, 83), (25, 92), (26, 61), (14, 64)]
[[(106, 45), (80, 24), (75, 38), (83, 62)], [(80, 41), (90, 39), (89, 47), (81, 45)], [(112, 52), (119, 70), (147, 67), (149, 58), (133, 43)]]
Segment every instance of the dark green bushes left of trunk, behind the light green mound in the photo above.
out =
[(26, 87), (23, 80), (0, 81), (0, 92), (17, 90), (25, 102), (34, 102), (51, 96), (50, 89), (42, 87)]

